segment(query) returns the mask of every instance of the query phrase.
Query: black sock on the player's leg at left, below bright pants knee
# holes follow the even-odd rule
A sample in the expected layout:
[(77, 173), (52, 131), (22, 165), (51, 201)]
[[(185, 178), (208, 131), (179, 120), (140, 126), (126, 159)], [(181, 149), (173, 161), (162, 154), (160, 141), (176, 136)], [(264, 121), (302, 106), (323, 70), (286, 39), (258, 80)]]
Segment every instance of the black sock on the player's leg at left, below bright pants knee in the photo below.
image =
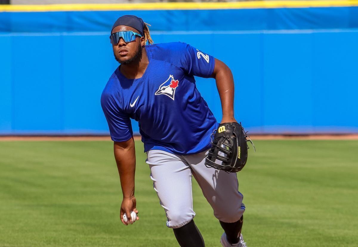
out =
[(204, 239), (193, 220), (173, 231), (181, 247), (205, 247)]

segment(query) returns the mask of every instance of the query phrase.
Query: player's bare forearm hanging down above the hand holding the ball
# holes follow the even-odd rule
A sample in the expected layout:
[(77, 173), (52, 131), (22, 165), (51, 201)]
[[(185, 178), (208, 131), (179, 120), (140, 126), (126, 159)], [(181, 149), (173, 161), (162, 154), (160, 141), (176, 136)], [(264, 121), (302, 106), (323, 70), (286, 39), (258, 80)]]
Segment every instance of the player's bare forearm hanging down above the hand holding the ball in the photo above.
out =
[(121, 180), (123, 198), (134, 197), (135, 147), (134, 140), (115, 142), (114, 155)]

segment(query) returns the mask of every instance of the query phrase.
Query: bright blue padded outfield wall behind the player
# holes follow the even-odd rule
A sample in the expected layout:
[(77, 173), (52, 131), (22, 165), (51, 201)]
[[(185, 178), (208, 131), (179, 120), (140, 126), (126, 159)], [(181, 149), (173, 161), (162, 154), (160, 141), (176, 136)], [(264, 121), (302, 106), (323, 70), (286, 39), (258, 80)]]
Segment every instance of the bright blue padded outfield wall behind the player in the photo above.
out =
[[(251, 133), (358, 132), (358, 8), (342, 7), (0, 13), (0, 134), (107, 134), (108, 35), (123, 14), (152, 24), (155, 43), (224, 61)], [(220, 120), (214, 79), (197, 87)]]

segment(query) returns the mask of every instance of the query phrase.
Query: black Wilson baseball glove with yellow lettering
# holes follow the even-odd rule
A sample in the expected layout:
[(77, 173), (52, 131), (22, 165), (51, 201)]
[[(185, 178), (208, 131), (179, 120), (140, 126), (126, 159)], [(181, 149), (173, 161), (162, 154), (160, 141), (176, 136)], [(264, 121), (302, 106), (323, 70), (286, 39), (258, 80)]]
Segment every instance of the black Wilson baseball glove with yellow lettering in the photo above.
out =
[(241, 123), (220, 124), (212, 135), (214, 135), (212, 147), (205, 159), (205, 165), (208, 167), (236, 173), (241, 171), (246, 164), (248, 141), (251, 142), (256, 151)]

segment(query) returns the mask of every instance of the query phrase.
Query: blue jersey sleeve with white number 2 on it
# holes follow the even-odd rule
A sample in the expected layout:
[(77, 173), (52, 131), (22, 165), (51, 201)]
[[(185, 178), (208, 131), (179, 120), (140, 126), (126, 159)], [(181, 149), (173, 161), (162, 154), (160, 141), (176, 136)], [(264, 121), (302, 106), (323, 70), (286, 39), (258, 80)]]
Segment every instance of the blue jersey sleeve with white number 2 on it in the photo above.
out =
[(215, 59), (213, 56), (189, 44), (185, 44), (183, 54), (184, 64), (182, 64), (182, 66), (186, 73), (204, 78), (211, 77), (215, 67)]

